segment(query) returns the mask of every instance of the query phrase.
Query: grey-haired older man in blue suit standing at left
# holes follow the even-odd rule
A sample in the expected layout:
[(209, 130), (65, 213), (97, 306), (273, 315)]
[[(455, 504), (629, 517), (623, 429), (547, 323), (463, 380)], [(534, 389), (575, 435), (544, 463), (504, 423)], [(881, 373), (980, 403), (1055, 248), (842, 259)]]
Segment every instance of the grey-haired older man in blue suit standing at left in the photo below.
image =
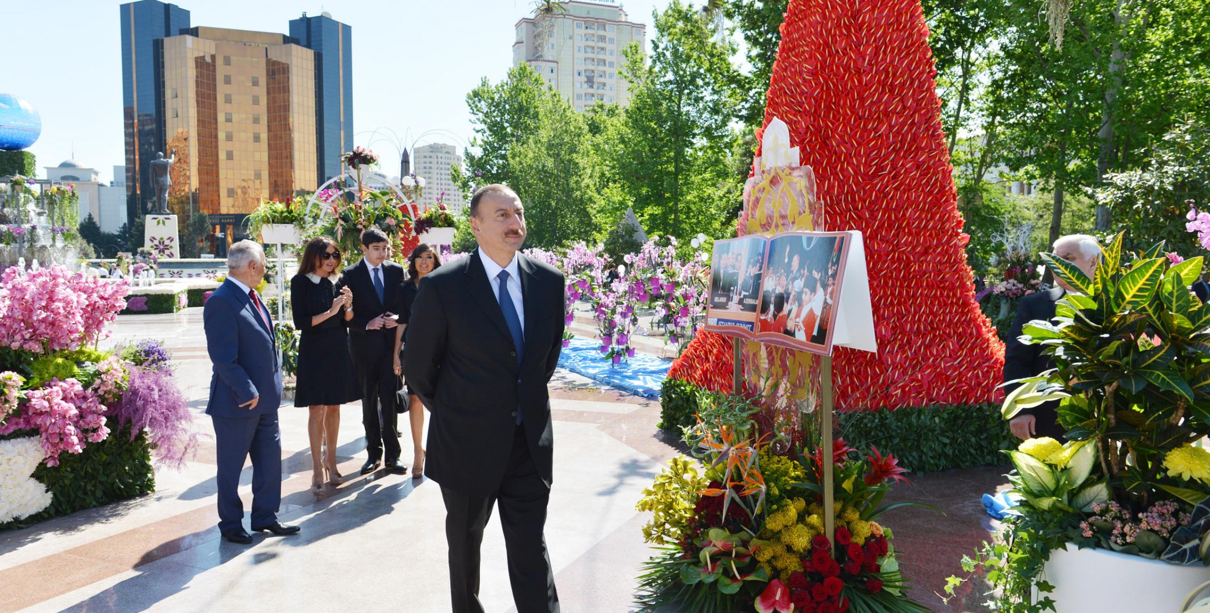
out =
[(253, 287), (265, 276), (265, 251), (241, 241), (227, 251), (227, 278), (202, 312), (206, 349), (214, 364), (206, 414), (214, 421), (218, 456), (219, 531), (238, 544), (252, 543), (243, 530), (240, 473), (252, 455), (252, 530), (293, 534), (298, 526), (277, 520), (282, 502), (282, 435), (277, 405), (282, 375), (272, 319)]

